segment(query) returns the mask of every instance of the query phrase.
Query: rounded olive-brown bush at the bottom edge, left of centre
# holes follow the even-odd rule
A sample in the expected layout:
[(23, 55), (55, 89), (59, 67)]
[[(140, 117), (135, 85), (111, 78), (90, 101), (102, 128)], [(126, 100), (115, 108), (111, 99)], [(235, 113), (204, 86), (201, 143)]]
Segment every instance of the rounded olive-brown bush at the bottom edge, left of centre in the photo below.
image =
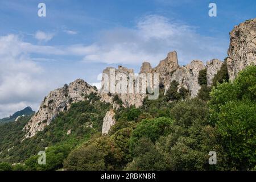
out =
[(113, 140), (100, 137), (72, 151), (64, 161), (67, 170), (114, 170), (121, 166), (122, 156)]

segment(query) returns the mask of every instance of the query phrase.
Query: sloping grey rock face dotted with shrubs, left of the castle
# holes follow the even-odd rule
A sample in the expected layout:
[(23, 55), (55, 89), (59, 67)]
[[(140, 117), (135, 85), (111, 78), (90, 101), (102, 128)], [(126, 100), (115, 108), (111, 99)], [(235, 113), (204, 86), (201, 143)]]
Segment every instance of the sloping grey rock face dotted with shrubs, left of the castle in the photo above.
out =
[(38, 131), (42, 131), (49, 125), (61, 111), (68, 110), (73, 102), (84, 101), (85, 96), (97, 91), (84, 80), (78, 79), (63, 88), (53, 90), (44, 98), (38, 113), (33, 115), (30, 122), (24, 126), (26, 138), (33, 137)]

